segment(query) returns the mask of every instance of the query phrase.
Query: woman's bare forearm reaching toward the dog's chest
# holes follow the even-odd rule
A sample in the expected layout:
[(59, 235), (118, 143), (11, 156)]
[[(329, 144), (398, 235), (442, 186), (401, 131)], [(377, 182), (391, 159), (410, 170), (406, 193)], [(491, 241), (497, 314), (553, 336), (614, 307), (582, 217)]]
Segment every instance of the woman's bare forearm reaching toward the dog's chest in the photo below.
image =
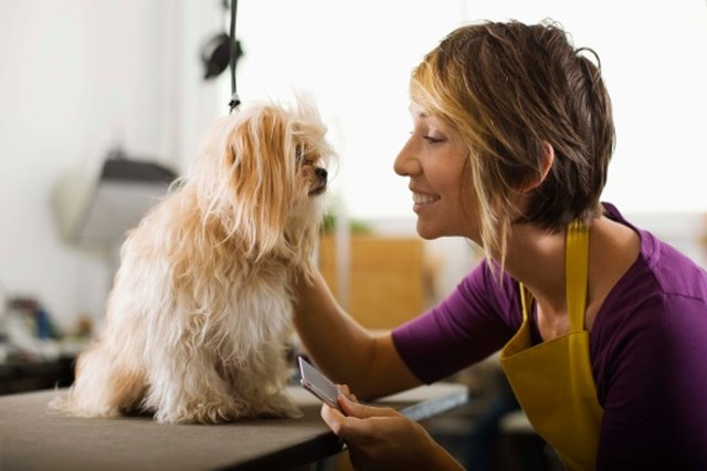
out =
[(334, 383), (348, 384), (372, 399), (419, 386), (398, 354), (390, 333), (372, 335), (338, 305), (319, 273), (314, 283), (298, 276), (295, 327), (313, 362)]

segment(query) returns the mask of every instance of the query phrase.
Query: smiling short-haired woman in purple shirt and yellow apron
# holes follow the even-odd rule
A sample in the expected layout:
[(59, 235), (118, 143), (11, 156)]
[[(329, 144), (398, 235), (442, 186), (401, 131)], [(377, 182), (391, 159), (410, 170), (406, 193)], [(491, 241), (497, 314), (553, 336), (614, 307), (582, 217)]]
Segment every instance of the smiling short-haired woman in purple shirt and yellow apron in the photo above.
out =
[[(395, 159), (416, 229), (486, 260), (430, 312), (371, 336), (324, 281), (295, 323), (317, 365), (370, 399), (502, 350), (528, 418), (570, 469), (707, 469), (707, 273), (600, 203), (614, 144), (591, 50), (555, 24), (452, 32), (414, 70)], [(344, 388), (348, 391), (347, 388)], [(419, 426), (339, 398), (323, 418), (357, 468), (457, 469)]]

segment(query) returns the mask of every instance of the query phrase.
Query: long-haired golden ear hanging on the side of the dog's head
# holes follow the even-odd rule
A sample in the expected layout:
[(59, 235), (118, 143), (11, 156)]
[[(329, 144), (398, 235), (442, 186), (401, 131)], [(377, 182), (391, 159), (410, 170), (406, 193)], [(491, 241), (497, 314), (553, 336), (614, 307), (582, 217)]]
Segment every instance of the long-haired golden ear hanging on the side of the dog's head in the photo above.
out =
[(284, 241), (293, 195), (295, 149), (287, 113), (261, 105), (244, 113), (233, 127), (225, 153), (233, 202), (231, 233), (245, 238), (247, 251), (260, 258)]

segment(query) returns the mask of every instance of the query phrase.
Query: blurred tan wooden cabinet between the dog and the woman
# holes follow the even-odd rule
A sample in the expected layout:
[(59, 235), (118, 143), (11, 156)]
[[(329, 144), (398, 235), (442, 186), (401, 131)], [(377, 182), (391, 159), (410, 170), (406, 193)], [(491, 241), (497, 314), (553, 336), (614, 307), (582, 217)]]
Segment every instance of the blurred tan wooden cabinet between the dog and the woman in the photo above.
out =
[[(365, 327), (390, 329), (423, 311), (420, 239), (351, 236), (349, 258), (347, 311)], [(336, 241), (325, 236), (319, 245), (319, 270), (335, 296), (340, 293), (336, 263)]]

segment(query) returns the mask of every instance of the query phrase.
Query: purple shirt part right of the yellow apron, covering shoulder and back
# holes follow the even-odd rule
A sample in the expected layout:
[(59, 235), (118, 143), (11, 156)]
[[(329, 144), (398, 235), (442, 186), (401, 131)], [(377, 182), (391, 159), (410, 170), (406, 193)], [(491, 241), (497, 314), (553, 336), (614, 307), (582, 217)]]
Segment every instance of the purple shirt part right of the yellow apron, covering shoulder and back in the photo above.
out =
[(626, 450), (661, 447), (673, 461), (705, 460), (707, 402), (695, 385), (707, 378), (707, 273), (633, 228), (641, 253), (604, 300), (590, 334), (604, 409), (600, 454), (613, 461)]

